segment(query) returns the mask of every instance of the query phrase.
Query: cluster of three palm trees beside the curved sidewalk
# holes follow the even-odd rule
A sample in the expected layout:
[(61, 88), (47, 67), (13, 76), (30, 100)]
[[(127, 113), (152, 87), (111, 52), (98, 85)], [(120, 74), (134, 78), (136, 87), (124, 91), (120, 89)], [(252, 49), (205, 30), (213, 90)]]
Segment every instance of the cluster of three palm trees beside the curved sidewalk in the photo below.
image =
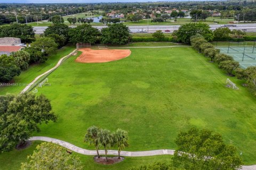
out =
[(115, 132), (110, 132), (107, 129), (100, 129), (97, 126), (91, 126), (87, 129), (84, 141), (95, 147), (98, 158), (100, 158), (99, 148), (103, 147), (106, 161), (108, 161), (107, 152), (109, 148), (117, 146), (118, 159), (120, 159), (121, 150), (129, 146), (126, 131), (117, 129)]

